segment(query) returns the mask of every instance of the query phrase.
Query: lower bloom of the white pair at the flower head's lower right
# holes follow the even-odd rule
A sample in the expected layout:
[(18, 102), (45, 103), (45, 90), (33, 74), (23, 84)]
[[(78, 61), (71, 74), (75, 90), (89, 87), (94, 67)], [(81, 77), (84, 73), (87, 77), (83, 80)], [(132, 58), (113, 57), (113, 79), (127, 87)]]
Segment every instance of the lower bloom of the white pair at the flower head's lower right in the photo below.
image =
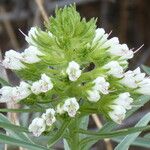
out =
[(125, 113), (126, 113), (125, 108), (121, 105), (112, 105), (111, 108), (112, 111), (109, 112), (110, 118), (114, 122), (121, 124), (125, 118)]

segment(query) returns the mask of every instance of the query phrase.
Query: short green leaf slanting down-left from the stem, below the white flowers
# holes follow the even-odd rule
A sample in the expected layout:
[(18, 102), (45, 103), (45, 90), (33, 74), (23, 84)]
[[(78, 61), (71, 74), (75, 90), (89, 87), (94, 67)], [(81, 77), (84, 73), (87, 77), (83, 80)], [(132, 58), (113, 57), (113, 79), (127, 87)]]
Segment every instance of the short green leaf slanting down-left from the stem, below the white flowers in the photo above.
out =
[(59, 131), (57, 131), (56, 134), (53, 137), (51, 137), (50, 140), (48, 141), (48, 147), (53, 146), (55, 143), (57, 143), (63, 137), (70, 122), (71, 122), (71, 120), (64, 121), (64, 123), (62, 124)]

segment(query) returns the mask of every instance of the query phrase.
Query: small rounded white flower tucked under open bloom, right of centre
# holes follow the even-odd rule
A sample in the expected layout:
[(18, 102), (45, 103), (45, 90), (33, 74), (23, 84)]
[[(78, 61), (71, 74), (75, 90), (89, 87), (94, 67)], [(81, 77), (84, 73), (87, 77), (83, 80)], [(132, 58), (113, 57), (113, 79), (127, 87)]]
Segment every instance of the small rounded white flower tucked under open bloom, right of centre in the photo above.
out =
[(91, 102), (97, 102), (100, 99), (100, 94), (97, 90), (90, 90), (88, 93), (88, 100)]

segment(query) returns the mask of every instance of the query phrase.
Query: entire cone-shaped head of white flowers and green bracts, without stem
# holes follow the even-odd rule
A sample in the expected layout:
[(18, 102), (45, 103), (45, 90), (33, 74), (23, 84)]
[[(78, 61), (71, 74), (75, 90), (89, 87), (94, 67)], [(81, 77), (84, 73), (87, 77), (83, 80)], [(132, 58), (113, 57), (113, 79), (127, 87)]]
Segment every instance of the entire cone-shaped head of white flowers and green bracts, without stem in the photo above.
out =
[(82, 20), (74, 7), (58, 10), (45, 31), (32, 27), (25, 35), (29, 47), (24, 52), (5, 53), (3, 66), (24, 81), (17, 87), (2, 87), (0, 102), (26, 101), (34, 94), (35, 103), (40, 97), (42, 104), (51, 104), (43, 105), (46, 113), (30, 124), (35, 136), (60, 118), (89, 115), (93, 110), (120, 124), (132, 109), (134, 96), (150, 95), (150, 79), (140, 68), (126, 71), (134, 52), (109, 36), (96, 29), (94, 20)]

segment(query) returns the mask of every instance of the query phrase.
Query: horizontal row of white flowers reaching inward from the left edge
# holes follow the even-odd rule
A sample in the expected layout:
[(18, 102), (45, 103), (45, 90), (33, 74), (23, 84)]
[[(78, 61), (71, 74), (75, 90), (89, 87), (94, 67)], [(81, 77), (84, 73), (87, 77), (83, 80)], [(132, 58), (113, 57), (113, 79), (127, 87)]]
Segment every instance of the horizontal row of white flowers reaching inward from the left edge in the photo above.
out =
[(53, 88), (51, 79), (42, 74), (39, 81), (33, 82), (32, 85), (22, 81), (19, 86), (11, 87), (4, 86), (0, 89), (0, 102), (14, 102), (17, 103), (20, 100), (27, 98), (32, 93), (39, 94), (41, 92), (47, 92)]

